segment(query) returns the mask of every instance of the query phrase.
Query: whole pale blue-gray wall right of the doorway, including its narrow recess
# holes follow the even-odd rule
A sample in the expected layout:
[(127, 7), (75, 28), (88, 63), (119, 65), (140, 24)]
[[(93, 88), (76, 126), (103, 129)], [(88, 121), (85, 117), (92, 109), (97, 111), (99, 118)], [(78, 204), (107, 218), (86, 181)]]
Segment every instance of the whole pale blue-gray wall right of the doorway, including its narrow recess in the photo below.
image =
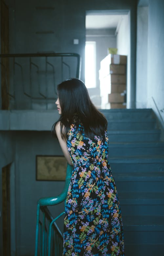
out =
[(136, 106), (152, 108), (164, 139), (164, 2), (138, 1)]

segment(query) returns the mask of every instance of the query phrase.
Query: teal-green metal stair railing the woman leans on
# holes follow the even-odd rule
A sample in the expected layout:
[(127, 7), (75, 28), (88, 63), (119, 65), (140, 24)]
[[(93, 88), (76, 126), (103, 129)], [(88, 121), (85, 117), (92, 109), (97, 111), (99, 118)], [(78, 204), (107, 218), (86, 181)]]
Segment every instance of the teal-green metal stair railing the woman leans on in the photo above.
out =
[(66, 199), (72, 170), (73, 166), (68, 164), (65, 186), (59, 196), (41, 198), (37, 202), (35, 256), (62, 255), (63, 235), (56, 224), (56, 220), (65, 212), (63, 211), (56, 218), (53, 218), (47, 207), (58, 205)]

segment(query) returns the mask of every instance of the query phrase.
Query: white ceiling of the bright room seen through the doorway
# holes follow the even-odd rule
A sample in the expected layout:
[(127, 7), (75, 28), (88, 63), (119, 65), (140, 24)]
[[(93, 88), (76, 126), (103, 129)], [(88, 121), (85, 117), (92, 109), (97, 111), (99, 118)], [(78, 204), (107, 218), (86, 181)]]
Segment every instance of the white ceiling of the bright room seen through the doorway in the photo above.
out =
[(86, 29), (116, 29), (123, 15), (86, 15)]

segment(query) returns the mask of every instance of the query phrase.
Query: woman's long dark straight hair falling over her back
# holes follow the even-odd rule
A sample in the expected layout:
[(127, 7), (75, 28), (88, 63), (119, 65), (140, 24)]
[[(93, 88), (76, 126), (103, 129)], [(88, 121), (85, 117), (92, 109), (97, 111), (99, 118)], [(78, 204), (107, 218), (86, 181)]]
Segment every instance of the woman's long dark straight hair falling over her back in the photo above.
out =
[(61, 137), (67, 138), (67, 133), (72, 123), (82, 123), (85, 135), (91, 139), (95, 135), (102, 136), (107, 129), (107, 120), (92, 104), (85, 84), (79, 79), (65, 80), (57, 87), (61, 108), (60, 121)]

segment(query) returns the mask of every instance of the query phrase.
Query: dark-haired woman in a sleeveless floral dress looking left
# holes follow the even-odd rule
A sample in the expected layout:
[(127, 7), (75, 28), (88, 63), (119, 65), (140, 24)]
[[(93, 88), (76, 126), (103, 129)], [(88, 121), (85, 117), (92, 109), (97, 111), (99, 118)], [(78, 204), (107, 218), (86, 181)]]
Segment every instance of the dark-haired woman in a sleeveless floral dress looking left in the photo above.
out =
[(73, 165), (64, 219), (63, 255), (124, 255), (121, 211), (108, 163), (107, 120), (78, 79), (58, 85), (59, 120), (53, 125)]

